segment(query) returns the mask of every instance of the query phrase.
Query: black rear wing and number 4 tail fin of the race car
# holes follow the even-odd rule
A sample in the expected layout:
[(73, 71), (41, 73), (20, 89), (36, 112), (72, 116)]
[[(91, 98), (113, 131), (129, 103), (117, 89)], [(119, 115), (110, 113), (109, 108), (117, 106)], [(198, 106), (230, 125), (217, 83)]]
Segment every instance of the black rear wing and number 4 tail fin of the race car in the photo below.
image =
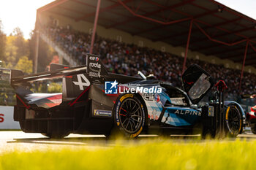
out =
[(20, 96), (33, 93), (31, 82), (40, 80), (53, 80), (62, 78), (62, 99), (63, 101), (76, 98), (91, 84), (103, 83), (108, 72), (99, 60), (97, 55), (87, 54), (86, 65), (65, 66), (61, 64), (51, 64), (50, 72), (24, 75), (17, 69), (11, 70), (10, 85)]

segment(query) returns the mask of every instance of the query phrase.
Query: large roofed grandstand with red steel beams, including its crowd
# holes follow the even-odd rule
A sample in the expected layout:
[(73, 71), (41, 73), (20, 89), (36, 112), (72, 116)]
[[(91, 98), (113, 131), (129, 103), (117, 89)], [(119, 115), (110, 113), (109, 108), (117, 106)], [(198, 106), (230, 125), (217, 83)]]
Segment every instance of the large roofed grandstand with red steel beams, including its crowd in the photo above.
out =
[(93, 44), (110, 72), (140, 70), (176, 85), (197, 63), (231, 95), (255, 93), (255, 26), (213, 0), (59, 0), (37, 9), (36, 30), (61, 62), (83, 64)]

